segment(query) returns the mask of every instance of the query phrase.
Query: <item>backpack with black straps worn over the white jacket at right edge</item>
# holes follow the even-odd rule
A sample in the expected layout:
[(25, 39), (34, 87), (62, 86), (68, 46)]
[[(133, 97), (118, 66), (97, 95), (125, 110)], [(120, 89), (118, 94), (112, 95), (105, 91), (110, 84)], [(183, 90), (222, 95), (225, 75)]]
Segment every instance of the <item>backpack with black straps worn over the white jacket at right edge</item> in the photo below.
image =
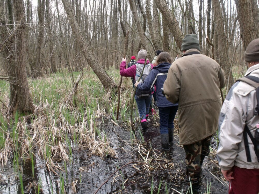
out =
[[(251, 86), (254, 86), (256, 88), (256, 98), (257, 98), (257, 105), (255, 107), (255, 115), (257, 114), (259, 117), (258, 113), (258, 104), (259, 104), (259, 78), (255, 76), (245, 76), (242, 77), (236, 81), (243, 81)], [(246, 149), (246, 157), (247, 161), (251, 162), (251, 155), (250, 155), (250, 150), (249, 150), (249, 145), (248, 145), (248, 139), (247, 139), (247, 134), (249, 135), (250, 139), (252, 140), (254, 144), (254, 151), (257, 156), (257, 160), (259, 162), (259, 132), (256, 130), (255, 131), (255, 137), (253, 137), (252, 133), (247, 127), (247, 124), (244, 126), (244, 132), (243, 132), (243, 137), (244, 137), (244, 146)]]

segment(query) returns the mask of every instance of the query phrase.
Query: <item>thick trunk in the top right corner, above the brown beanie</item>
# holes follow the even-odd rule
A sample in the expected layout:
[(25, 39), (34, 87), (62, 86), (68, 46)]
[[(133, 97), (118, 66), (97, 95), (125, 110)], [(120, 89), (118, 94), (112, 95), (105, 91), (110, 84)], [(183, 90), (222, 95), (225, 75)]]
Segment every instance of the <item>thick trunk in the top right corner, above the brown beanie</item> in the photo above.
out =
[(258, 8), (254, 7), (253, 1), (235, 0), (244, 50), (252, 40), (259, 38)]

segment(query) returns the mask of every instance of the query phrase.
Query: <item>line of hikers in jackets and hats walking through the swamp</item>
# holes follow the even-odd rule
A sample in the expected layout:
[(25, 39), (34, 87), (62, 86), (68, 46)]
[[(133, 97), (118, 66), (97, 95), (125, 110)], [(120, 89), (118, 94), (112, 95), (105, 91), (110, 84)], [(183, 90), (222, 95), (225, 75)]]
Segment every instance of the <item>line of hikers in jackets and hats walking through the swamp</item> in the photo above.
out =
[(138, 52), (137, 61), (132, 56), (127, 69), (126, 59), (121, 60), (120, 75), (132, 77), (136, 87), (142, 129), (147, 130), (155, 88), (161, 148), (168, 150), (173, 141), (178, 110), (179, 144), (186, 153), (186, 180), (189, 182), (190, 177), (193, 193), (201, 192), (202, 164), (210, 153), (211, 139), (218, 127), (217, 159), (222, 174), (230, 182), (228, 193), (258, 194), (259, 39), (247, 46), (246, 77), (231, 87), (223, 105), (220, 89), (226, 84), (225, 72), (215, 60), (200, 53), (196, 34), (185, 35), (181, 51), (183, 55), (179, 58), (177, 55), (174, 62), (168, 52), (157, 51), (152, 64), (149, 60), (145, 64), (146, 50)]

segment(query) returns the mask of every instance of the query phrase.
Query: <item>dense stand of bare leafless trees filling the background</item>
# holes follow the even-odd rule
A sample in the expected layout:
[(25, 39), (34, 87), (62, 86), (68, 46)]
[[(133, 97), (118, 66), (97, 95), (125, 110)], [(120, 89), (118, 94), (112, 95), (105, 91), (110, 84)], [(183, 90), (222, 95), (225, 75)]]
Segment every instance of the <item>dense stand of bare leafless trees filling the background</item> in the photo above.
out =
[[(230, 87), (231, 68), (243, 68), (244, 49), (259, 37), (256, 0), (35, 1), (0, 2), (1, 74), (8, 71), (10, 85), (25, 90), (26, 75), (38, 79), (64, 68), (71, 73), (87, 68), (105, 88), (116, 87), (106, 70), (119, 67), (128, 30), (126, 56), (143, 48), (150, 61), (157, 49), (174, 58), (181, 53), (183, 36), (196, 33), (202, 53), (220, 63)], [(13, 75), (17, 65), (24, 78)], [(19, 95), (11, 91), (10, 105), (16, 106)], [(32, 107), (29, 101), (26, 107)]]

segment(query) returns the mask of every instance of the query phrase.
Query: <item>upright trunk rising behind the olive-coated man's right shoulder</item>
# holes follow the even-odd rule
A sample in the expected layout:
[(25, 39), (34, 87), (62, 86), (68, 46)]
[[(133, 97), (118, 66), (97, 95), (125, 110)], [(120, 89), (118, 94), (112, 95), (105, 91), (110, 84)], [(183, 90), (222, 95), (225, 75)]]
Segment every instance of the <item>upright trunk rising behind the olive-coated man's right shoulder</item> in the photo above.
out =
[[(225, 71), (226, 78), (228, 80), (228, 88), (230, 88), (234, 84), (234, 78), (231, 72), (231, 67), (228, 59), (228, 49), (227, 49), (227, 37), (225, 35), (224, 29), (224, 20), (221, 13), (221, 6), (219, 0), (212, 0), (215, 20), (217, 25), (217, 37), (218, 37), (218, 45), (219, 45), (219, 58), (217, 62), (220, 64), (222, 69)], [(227, 88), (227, 90), (228, 90)]]

